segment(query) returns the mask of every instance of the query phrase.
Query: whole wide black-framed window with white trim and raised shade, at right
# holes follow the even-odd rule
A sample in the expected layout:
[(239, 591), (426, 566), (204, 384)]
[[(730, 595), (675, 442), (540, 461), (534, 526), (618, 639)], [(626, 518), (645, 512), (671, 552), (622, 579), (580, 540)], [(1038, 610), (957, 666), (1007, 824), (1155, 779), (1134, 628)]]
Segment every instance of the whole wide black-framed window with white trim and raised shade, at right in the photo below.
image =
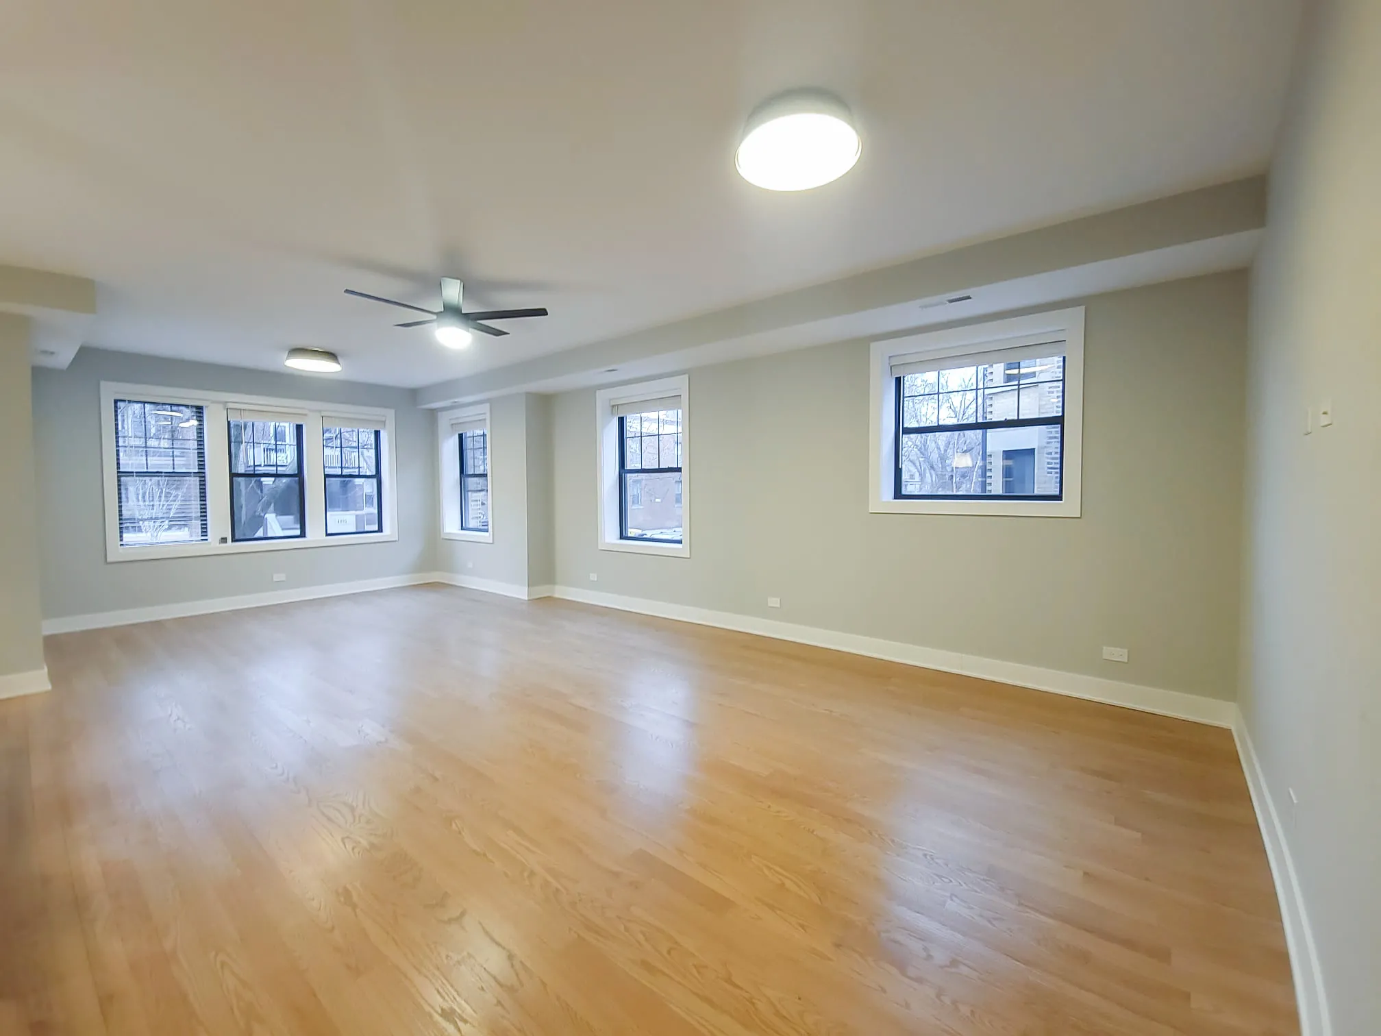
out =
[(873, 344), (870, 510), (1079, 517), (1083, 309)]

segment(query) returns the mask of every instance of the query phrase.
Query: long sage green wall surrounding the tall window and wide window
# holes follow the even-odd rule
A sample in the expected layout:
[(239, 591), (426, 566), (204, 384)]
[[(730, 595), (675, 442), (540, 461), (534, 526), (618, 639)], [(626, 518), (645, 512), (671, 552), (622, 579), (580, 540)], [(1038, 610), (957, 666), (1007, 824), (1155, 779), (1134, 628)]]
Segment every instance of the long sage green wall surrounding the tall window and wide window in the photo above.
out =
[(849, 341), (690, 370), (688, 559), (597, 547), (594, 392), (557, 396), (557, 582), (1233, 698), (1246, 274), (1084, 304), (1083, 518), (870, 514)]

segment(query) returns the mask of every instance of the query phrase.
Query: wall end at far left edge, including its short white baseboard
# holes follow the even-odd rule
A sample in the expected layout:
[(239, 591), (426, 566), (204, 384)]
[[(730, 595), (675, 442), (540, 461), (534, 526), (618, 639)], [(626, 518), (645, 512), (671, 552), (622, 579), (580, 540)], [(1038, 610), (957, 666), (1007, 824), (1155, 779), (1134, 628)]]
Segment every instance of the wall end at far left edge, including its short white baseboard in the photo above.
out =
[(28, 316), (0, 312), (0, 698), (47, 691)]

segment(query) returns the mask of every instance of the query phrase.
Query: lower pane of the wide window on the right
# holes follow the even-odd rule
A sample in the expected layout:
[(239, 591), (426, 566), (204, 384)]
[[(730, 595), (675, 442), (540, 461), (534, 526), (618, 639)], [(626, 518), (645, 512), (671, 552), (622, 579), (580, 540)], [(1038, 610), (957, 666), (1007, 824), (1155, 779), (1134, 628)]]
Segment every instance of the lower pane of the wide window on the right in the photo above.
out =
[(1058, 424), (902, 435), (903, 496), (1061, 493)]

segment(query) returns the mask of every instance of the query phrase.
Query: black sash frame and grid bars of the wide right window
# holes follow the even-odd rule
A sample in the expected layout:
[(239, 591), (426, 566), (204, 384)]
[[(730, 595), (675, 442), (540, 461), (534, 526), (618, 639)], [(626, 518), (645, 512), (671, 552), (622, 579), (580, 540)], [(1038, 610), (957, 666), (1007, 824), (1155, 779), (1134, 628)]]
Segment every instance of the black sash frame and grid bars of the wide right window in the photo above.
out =
[[(1058, 361), (1059, 369), (1058, 377), (1044, 376), (1039, 377), (1043, 370), (1048, 370), (1050, 366), (1039, 367), (1034, 365), (1048, 363), (1048, 361)], [(1066, 377), (1068, 377), (1068, 358), (1065, 355), (1040, 356), (1025, 361), (1015, 362), (1000, 362), (1000, 363), (975, 363), (972, 366), (964, 367), (942, 367), (934, 372), (925, 372), (920, 374), (900, 374), (894, 378), (894, 396), (896, 399), (896, 442), (894, 449), (896, 453), (896, 463), (894, 467), (892, 478), (892, 492), (898, 500), (987, 500), (987, 501), (1001, 501), (1001, 500), (1039, 500), (1039, 501), (1058, 501), (1063, 500), (1065, 496), (1065, 399), (1068, 392)], [(1015, 370), (1014, 370), (1015, 369)], [(994, 380), (994, 370), (1000, 374), (1001, 380)], [(1023, 370), (1032, 370), (1037, 377), (1012, 380), (1010, 376), (1012, 373), (1021, 373)], [(965, 374), (972, 372), (972, 377), (968, 378)], [(979, 372), (983, 372), (979, 374)], [(914, 378), (914, 380), (913, 380)], [(923, 388), (923, 391), (907, 392), (907, 381), (911, 385), (934, 385)], [(1030, 387), (1041, 385), (1059, 385), (1059, 414), (1045, 414), (1033, 417), (1021, 417), (1022, 407), (1022, 390)], [(956, 394), (972, 394), (974, 401), (974, 417), (979, 416), (983, 405), (987, 402), (990, 390), (997, 390), (998, 392), (1011, 392), (1016, 405), (1016, 416), (1012, 419), (1000, 420), (972, 420), (972, 421), (954, 421), (945, 423), (940, 413), (940, 399), (946, 395)], [(936, 414), (934, 424), (924, 425), (907, 425), (903, 417), (907, 412), (907, 401), (923, 401), (935, 399), (936, 401)], [(987, 464), (987, 432), (992, 430), (1003, 428), (1058, 428), (1059, 430), (1059, 466), (1055, 474), (1056, 490), (1054, 493), (906, 493), (903, 492), (903, 456), (906, 437), (909, 435), (938, 435), (938, 434), (960, 434), (978, 431), (982, 432), (982, 464), (974, 466), (975, 475), (978, 477), (979, 467), (983, 471), (985, 485), (994, 477), (994, 472)], [(1043, 450), (1037, 449), (1036, 461), (1036, 477), (1040, 474)], [(953, 467), (952, 467), (953, 471)], [(997, 478), (1001, 478), (1003, 472), (997, 472)]]

